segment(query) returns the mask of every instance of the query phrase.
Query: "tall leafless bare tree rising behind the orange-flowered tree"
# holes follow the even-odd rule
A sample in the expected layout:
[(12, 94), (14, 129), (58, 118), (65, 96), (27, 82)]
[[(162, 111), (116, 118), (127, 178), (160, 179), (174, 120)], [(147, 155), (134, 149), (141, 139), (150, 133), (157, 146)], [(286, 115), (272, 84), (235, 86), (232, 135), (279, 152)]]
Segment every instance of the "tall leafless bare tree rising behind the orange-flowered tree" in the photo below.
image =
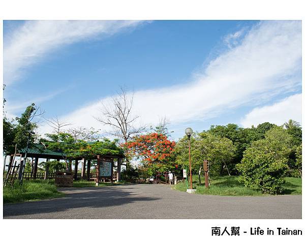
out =
[(120, 87), (117, 96), (111, 99), (110, 105), (106, 106), (103, 103), (101, 108), (103, 117), (96, 118), (102, 124), (112, 128), (107, 133), (124, 142), (146, 130), (145, 125), (135, 125), (136, 119), (140, 116), (132, 114), (133, 96), (133, 93), (130, 96), (126, 93), (125, 87)]

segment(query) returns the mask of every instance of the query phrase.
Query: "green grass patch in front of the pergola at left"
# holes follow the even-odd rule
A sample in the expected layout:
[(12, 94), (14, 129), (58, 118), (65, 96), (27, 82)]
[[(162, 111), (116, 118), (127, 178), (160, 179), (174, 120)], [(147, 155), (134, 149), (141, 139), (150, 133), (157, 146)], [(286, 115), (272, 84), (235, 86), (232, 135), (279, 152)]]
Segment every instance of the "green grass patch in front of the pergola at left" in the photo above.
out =
[(22, 185), (15, 182), (14, 187), (6, 186), (3, 189), (3, 202), (34, 201), (39, 199), (62, 197), (58, 192), (54, 180), (25, 180)]

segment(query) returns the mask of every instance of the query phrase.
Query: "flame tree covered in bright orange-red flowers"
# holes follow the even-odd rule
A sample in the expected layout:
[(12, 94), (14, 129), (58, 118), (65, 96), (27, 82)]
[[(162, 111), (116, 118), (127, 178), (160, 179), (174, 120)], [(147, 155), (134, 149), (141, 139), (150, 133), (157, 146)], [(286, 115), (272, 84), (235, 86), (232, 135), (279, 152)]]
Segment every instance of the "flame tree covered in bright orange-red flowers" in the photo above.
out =
[(125, 143), (125, 146), (131, 157), (141, 159), (141, 163), (151, 175), (177, 167), (173, 158), (175, 141), (170, 141), (164, 134), (136, 136)]

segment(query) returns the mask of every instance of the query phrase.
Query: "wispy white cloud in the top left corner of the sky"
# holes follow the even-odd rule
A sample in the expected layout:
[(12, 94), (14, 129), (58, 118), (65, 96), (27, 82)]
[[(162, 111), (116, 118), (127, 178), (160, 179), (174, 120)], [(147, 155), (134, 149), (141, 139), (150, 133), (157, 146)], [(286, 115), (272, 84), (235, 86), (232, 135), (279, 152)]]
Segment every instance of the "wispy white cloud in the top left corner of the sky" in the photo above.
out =
[(138, 25), (139, 21), (26, 21), (4, 38), (4, 82), (20, 79), (23, 70), (52, 50), (93, 38), (109, 36)]

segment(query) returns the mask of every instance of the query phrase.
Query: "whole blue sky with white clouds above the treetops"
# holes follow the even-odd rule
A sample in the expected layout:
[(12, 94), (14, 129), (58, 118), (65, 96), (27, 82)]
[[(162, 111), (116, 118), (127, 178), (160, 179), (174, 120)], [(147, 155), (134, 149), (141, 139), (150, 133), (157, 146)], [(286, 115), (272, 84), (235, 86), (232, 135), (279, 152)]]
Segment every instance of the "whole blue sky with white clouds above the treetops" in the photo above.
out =
[(301, 122), (301, 23), (4, 21), (4, 83), (10, 117), (35, 102), (46, 118), (102, 131), (93, 115), (119, 85), (142, 123), (166, 116), (173, 138), (189, 126)]

